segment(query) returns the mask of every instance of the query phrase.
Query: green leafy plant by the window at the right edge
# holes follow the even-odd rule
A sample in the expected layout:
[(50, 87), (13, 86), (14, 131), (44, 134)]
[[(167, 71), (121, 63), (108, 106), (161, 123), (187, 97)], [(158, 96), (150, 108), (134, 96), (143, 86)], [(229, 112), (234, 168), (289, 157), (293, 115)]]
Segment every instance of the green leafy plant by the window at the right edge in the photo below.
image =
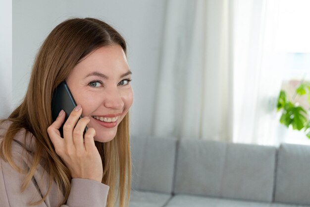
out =
[[(302, 82), (294, 94), (293, 100), (296, 96), (307, 96), (310, 104), (310, 82)], [(286, 127), (292, 126), (293, 130), (304, 131), (306, 136), (310, 138), (310, 120), (309, 111), (300, 106), (298, 102), (291, 102), (285, 91), (281, 90), (277, 103), (277, 111), (282, 110), (280, 123)]]

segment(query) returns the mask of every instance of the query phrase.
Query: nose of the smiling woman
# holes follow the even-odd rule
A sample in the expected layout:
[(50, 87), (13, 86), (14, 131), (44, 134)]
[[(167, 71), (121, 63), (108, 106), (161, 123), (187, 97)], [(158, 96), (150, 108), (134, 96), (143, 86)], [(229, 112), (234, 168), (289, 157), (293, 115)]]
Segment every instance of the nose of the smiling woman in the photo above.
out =
[(122, 109), (124, 107), (122, 96), (117, 89), (106, 91), (103, 100), (103, 104), (106, 108)]

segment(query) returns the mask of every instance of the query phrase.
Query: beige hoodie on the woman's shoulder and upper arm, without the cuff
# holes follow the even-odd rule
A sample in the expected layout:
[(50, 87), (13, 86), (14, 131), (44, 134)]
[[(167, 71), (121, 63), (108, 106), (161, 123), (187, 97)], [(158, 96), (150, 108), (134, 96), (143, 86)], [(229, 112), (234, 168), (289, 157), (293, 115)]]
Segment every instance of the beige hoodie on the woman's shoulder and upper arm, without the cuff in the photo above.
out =
[[(0, 124), (0, 143), (4, 143), (4, 135), (11, 124), (11, 122)], [(8, 147), (10, 149), (9, 155), (6, 151), (5, 156), (0, 156), (0, 183), (3, 184), (0, 185), (0, 201), (9, 202), (4, 206), (25, 206), (25, 201), (39, 201), (42, 199), (42, 195), (48, 192), (50, 177), (44, 168), (45, 162), (40, 162), (35, 167), (35, 172), (32, 174), (26, 190), (20, 193), (21, 186), (28, 179), (27, 173), (29, 173), (34, 163), (34, 143), (35, 137), (25, 129), (21, 129), (13, 137), (10, 145), (4, 146), (4, 148)], [(1, 152), (5, 151), (0, 150)], [(58, 192), (57, 185), (53, 182), (50, 196), (45, 200), (47, 206), (56, 207), (63, 199), (61, 194), (58, 195)], [(45, 203), (38, 206), (45, 206)], [(0, 206), (2, 207), (2, 203)]]

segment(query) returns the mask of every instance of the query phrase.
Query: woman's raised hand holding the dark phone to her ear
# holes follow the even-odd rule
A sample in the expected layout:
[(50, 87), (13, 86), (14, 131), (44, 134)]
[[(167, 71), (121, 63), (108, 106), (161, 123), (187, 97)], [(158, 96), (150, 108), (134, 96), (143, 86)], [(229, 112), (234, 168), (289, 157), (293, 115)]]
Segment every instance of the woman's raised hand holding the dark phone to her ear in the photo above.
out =
[(79, 120), (81, 114), (82, 108), (77, 105), (63, 126), (64, 138), (61, 138), (58, 130), (65, 118), (65, 113), (61, 110), (55, 122), (48, 128), (48, 134), (56, 153), (70, 170), (72, 178), (101, 182), (103, 165), (94, 142), (96, 132), (94, 128), (88, 128), (83, 140), (83, 132), (90, 119), (83, 117)]

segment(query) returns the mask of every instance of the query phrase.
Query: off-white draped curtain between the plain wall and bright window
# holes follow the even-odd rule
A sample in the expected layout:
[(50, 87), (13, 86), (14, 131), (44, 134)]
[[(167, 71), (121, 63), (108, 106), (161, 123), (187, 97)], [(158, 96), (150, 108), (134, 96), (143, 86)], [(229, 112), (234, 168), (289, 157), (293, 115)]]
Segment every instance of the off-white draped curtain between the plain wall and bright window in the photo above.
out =
[(154, 135), (232, 140), (232, 2), (167, 1)]

